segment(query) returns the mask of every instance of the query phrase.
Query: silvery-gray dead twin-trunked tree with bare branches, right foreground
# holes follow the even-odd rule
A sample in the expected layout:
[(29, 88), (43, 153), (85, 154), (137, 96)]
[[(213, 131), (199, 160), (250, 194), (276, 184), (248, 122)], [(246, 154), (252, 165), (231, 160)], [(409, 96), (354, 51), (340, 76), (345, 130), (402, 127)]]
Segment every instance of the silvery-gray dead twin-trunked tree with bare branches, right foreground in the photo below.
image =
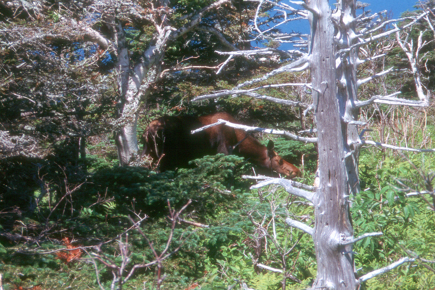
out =
[[(395, 27), (394, 29), (378, 33), (380, 28), (384, 29), (390, 20), (378, 23), (374, 28), (371, 23), (363, 29), (356, 30), (356, 23), (367, 23), (372, 17), (355, 16), (355, 0), (338, 0), (334, 12), (331, 11), (330, 3), (327, 0), (298, 1), (292, 3), (301, 5), (306, 10), (291, 9), (292, 13), (297, 13), (298, 17), (307, 17), (310, 21), (311, 38), (308, 42), (308, 53), (298, 52), (301, 57), (291, 63), (285, 64), (272, 70), (262, 77), (245, 81), (234, 87), (232, 90), (219, 91), (218, 93), (208, 94), (195, 98), (194, 100), (204, 100), (223, 96), (248, 95), (261, 100), (296, 106), (306, 109), (304, 113), (311, 109), (311, 106), (300, 102), (278, 99), (267, 94), (253, 93), (254, 89), (244, 89), (261, 81), (267, 80), (280, 73), (293, 71), (311, 70), (311, 87), (315, 121), (317, 126), (317, 138), (304, 138), (303, 142), (317, 142), (320, 183), (316, 193), (302, 189), (300, 184), (283, 179), (268, 179), (258, 183), (251, 188), (260, 188), (269, 184), (279, 184), (284, 189), (295, 196), (304, 198), (313, 203), (315, 207), (315, 227), (312, 228), (298, 220), (287, 217), (285, 222), (294, 228), (302, 230), (313, 237), (315, 243), (315, 253), (317, 258), (317, 277), (311, 289), (334, 289), (334, 290), (355, 290), (359, 289), (361, 283), (386, 273), (395, 267), (415, 261), (415, 257), (403, 257), (390, 265), (371, 271), (364, 275), (357, 275), (354, 268), (352, 244), (366, 237), (382, 235), (381, 232), (364, 233), (359, 237), (353, 238), (353, 226), (350, 218), (350, 199), (359, 190), (358, 178), (358, 157), (362, 145), (370, 144), (381, 148), (391, 148), (398, 150), (409, 150), (415, 152), (435, 152), (435, 149), (415, 149), (408, 147), (398, 147), (390, 144), (366, 140), (363, 135), (365, 130), (364, 122), (358, 121), (359, 108), (369, 106), (373, 103), (384, 103), (389, 105), (402, 105), (412, 107), (425, 107), (428, 105), (427, 97), (424, 95), (420, 85), (416, 84), (417, 97), (420, 99), (406, 100), (395, 97), (400, 92), (392, 93), (387, 96), (373, 96), (369, 100), (358, 101), (358, 86), (367, 83), (377, 77), (390, 73), (392, 69), (376, 73), (371, 77), (358, 80), (358, 65), (366, 61), (375, 60), (385, 54), (368, 55), (361, 60), (358, 58), (359, 48), (368, 43), (375, 42), (392, 33), (398, 33), (425, 19), (430, 27), (432, 23), (428, 19), (429, 14), (433, 14), (435, 8), (427, 9), (425, 12), (413, 18), (412, 21)], [(259, 1), (257, 11), (261, 11), (263, 1)], [(287, 4), (277, 4), (280, 9), (289, 7)], [(280, 10), (281, 11), (281, 10)], [(287, 21), (287, 14), (283, 12), (283, 18)], [(296, 19), (296, 18), (295, 18)], [(258, 20), (258, 13), (254, 22)], [(259, 23), (259, 22), (258, 22)], [(261, 31), (256, 24), (256, 30)], [(284, 22), (283, 22), (284, 23)], [(432, 29), (433, 30), (433, 29)], [(425, 43), (421, 36), (417, 47), (413, 47), (412, 42), (408, 42), (408, 33), (405, 33), (405, 40), (397, 40), (402, 50), (407, 54), (411, 63), (412, 73), (415, 75), (415, 82), (419, 83), (418, 55)], [(276, 40), (280, 40), (277, 37)], [(251, 51), (244, 52), (251, 55)], [(258, 50), (258, 55), (264, 50)], [(236, 53), (228, 53), (230, 57)], [(240, 54), (239, 52), (237, 54)], [(276, 87), (284, 87), (293, 84), (274, 84)], [(262, 89), (265, 86), (255, 89)], [(228, 123), (226, 125), (229, 125)], [(238, 125), (240, 129), (248, 130)], [(293, 140), (302, 140), (299, 136), (294, 136), (284, 131), (260, 129), (264, 133), (285, 135)], [(249, 130), (252, 130), (250, 128)], [(358, 132), (361, 130), (361, 132)], [(308, 189), (309, 190), (309, 189)]]

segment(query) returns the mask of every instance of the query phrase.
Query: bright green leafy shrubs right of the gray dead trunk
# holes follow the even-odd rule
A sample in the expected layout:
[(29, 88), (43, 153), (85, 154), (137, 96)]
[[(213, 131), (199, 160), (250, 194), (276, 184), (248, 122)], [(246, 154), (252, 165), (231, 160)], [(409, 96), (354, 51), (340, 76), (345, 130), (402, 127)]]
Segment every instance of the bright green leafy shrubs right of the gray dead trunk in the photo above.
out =
[[(355, 243), (355, 264), (361, 273), (385, 267), (391, 261), (408, 256), (410, 250), (421, 257), (433, 257), (434, 212), (419, 197), (405, 197), (396, 180), (418, 185), (415, 168), (400, 156), (378, 150), (365, 150), (360, 157), (361, 192), (351, 207), (355, 236), (379, 232), (380, 237), (365, 238)], [(425, 156), (425, 158), (422, 158)], [(422, 170), (429, 170), (433, 156), (410, 154), (409, 160)], [(365, 289), (431, 289), (433, 273), (418, 264), (405, 264), (369, 280)]]

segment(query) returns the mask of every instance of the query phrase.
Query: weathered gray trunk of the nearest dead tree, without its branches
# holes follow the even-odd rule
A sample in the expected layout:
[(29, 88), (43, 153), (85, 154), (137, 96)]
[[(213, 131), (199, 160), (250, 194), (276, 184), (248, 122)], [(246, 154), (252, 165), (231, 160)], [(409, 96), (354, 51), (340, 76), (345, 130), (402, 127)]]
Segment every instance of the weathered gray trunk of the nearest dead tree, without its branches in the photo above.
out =
[(344, 122), (346, 101), (342, 93), (337, 93), (335, 30), (327, 0), (312, 0), (310, 6), (318, 11), (310, 13), (309, 49), (320, 168), (320, 186), (313, 200), (313, 240), (318, 262), (313, 289), (355, 290), (351, 246), (341, 245), (353, 236), (348, 176), (355, 173), (346, 168), (348, 126)]

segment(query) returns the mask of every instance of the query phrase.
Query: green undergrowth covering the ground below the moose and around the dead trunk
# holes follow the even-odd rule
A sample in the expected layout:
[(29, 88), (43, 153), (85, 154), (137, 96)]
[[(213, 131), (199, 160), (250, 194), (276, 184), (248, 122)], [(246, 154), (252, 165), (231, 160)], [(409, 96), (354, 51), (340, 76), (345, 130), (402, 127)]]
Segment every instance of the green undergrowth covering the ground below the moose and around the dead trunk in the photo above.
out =
[[(301, 160), (305, 155), (306, 172), (298, 181), (311, 183), (314, 147), (279, 138), (274, 142), (285, 158)], [(421, 177), (412, 172), (414, 167), (429, 172), (435, 160), (422, 153), (407, 154), (407, 158), (374, 148), (361, 152), (361, 192), (352, 198), (351, 208), (355, 236), (378, 231), (383, 235), (355, 244), (358, 274), (410, 254), (435, 259), (434, 211), (421, 197), (405, 197), (401, 191), (404, 185), (424, 190)], [(278, 270), (285, 267), (286, 289), (309, 287), (316, 276), (311, 237), (287, 227), (284, 220), (291, 216), (312, 225), (311, 207), (279, 187), (249, 190), (252, 182), (241, 175), (250, 174), (251, 165), (241, 158), (217, 155), (194, 163), (193, 169), (165, 173), (109, 163), (91, 165), (92, 176), (64, 199), (48, 195), (37, 210), (15, 216), (7, 231), (10, 239), (0, 243), (3, 289), (97, 289), (98, 283), (110, 289), (112, 270), (92, 258), (104, 255), (121, 265), (120, 246), (127, 240), (127, 229), (127, 272), (134, 265), (152, 262), (154, 251), (164, 251), (167, 244), (174, 251), (162, 261), (165, 279), (160, 289), (228, 289), (235, 283), (256, 290), (280, 289), (284, 275), (259, 264)], [(168, 243), (168, 201), (172, 209), (180, 210), (189, 200), (183, 221), (177, 222)], [(135, 228), (133, 221), (139, 218), (143, 220)], [(156, 269), (151, 265), (137, 270), (124, 289), (154, 289)], [(371, 279), (363, 288), (433, 289), (434, 277), (430, 269), (415, 262)]]

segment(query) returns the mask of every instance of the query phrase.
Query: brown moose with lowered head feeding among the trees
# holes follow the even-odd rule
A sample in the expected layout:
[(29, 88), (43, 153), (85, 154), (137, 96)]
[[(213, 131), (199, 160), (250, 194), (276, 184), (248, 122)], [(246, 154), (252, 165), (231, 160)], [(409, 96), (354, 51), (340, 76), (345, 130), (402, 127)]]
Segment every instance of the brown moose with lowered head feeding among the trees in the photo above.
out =
[(206, 155), (224, 153), (244, 157), (257, 167), (271, 170), (293, 178), (300, 171), (293, 164), (282, 159), (273, 149), (274, 143), (269, 140), (268, 146), (241, 129), (219, 124), (192, 134), (191, 131), (216, 123), (223, 119), (238, 123), (234, 117), (225, 112), (206, 116), (165, 116), (152, 121), (142, 135), (144, 142), (143, 156), (152, 158), (160, 171), (187, 168), (189, 161)]

